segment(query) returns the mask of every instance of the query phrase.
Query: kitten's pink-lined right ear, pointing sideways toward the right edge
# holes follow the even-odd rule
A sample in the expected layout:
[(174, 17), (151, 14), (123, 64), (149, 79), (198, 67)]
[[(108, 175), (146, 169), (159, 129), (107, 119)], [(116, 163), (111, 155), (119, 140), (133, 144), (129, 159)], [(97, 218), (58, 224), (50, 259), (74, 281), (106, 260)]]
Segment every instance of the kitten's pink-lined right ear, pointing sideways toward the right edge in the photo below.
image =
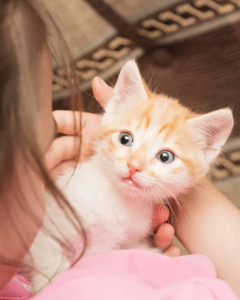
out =
[(209, 163), (219, 154), (232, 130), (232, 111), (228, 108), (219, 109), (191, 118), (188, 123), (195, 130)]

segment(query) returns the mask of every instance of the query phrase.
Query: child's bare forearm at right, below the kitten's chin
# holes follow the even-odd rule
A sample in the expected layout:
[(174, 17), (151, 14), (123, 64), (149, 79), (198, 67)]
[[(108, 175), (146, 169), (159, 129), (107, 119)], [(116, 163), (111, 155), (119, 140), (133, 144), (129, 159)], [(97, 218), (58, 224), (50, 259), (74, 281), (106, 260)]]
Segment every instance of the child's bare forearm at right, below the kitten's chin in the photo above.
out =
[(197, 187), (179, 199), (185, 216), (174, 208), (176, 235), (190, 253), (209, 257), (218, 277), (240, 296), (240, 210), (210, 181)]

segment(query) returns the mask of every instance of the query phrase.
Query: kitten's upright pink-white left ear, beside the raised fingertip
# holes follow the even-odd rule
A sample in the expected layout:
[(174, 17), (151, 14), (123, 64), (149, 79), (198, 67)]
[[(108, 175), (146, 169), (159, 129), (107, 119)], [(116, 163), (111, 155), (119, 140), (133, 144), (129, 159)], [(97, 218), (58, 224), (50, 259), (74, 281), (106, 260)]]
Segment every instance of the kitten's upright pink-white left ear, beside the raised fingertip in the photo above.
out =
[(106, 109), (111, 112), (117, 111), (121, 103), (133, 98), (147, 100), (148, 97), (136, 62), (129, 60), (120, 71), (114, 87), (114, 96)]

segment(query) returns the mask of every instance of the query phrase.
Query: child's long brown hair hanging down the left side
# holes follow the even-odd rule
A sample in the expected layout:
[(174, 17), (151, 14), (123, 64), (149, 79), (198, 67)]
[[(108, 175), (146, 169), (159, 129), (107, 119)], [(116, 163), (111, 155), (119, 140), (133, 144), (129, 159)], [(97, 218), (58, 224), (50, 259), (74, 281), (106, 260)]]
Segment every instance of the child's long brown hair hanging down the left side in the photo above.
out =
[[(71, 108), (79, 110), (79, 85), (71, 65), (71, 55), (47, 9), (39, 0), (0, 1), (0, 209), (9, 214), (8, 218), (19, 238), (24, 232), (19, 232), (13, 214), (15, 207), (40, 226), (40, 220), (31, 210), (24, 196), (24, 187), (21, 186), (21, 176), (26, 173), (27, 182), (36, 194), (31, 181), (33, 172), (44, 181), (60, 207), (79, 228), (79, 233), (84, 235), (74, 209), (44, 167), (43, 153), (36, 137), (35, 124), (40, 107), (38, 69), (41, 51), (47, 45), (49, 36), (54, 54), (58, 53), (66, 68)], [(21, 164), (24, 169), (18, 169), (19, 161), (24, 162)], [(14, 198), (9, 196), (10, 188), (15, 191)], [(64, 245), (64, 239), (59, 242)], [(13, 265), (19, 261), (0, 256), (0, 263)]]

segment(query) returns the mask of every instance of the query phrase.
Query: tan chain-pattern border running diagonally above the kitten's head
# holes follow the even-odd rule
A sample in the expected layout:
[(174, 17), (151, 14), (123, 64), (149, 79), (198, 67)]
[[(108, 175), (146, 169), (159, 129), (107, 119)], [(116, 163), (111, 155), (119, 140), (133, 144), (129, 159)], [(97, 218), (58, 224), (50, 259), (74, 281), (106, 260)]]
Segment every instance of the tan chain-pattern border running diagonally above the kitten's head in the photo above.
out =
[[(114, 3), (113, 0), (109, 2)], [(135, 2), (137, 3), (137, 0)], [(240, 19), (240, 0), (178, 0), (171, 6), (166, 5), (166, 1), (163, 2), (164, 9), (161, 7), (158, 12), (137, 22), (138, 34), (149, 39), (150, 48), (184, 38), (189, 39), (196, 34)], [(85, 26), (87, 28), (88, 24)], [(85, 30), (84, 27), (80, 29)], [(75, 65), (82, 89), (89, 89), (91, 80), (96, 75), (103, 79), (111, 78), (119, 71), (124, 61), (132, 57), (138, 58), (146, 50), (149, 49), (137, 46), (130, 38), (116, 35), (78, 57)], [(53, 87), (55, 100), (68, 95), (68, 84), (61, 68), (55, 69)]]

